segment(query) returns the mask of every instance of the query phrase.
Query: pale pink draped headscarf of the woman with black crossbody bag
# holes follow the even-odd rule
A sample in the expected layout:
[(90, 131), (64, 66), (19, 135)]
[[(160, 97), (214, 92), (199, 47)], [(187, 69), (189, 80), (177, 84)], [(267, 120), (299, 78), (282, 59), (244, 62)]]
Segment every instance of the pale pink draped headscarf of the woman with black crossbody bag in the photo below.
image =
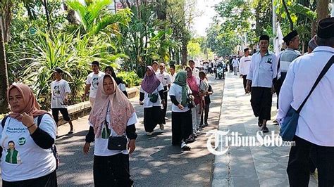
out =
[[(103, 88), (105, 77), (110, 77), (113, 81), (113, 89), (111, 95), (107, 95)], [(89, 114), (88, 121), (93, 124), (95, 137), (101, 136), (101, 124), (106, 120), (106, 112), (110, 108), (110, 124), (109, 128), (113, 129), (118, 135), (124, 134), (128, 120), (135, 112), (135, 108), (131, 105), (129, 99), (118, 89), (115, 79), (111, 75), (104, 75), (103, 79), (99, 80), (97, 86), (97, 97)]]

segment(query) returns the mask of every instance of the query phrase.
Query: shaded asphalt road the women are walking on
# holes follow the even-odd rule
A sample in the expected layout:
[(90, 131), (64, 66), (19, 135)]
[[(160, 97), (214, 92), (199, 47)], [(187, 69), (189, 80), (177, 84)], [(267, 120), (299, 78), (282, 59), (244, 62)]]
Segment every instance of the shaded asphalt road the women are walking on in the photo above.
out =
[[(209, 77), (214, 95), (211, 96), (209, 127), (190, 143), (192, 150), (181, 153), (180, 148), (171, 146), (171, 112), (165, 131), (156, 128), (154, 136), (147, 136), (142, 124), (143, 109), (138, 105), (138, 98), (131, 99), (135, 106), (140, 123), (136, 125), (136, 150), (130, 156), (130, 174), (135, 186), (209, 186), (214, 155), (206, 149), (205, 132), (218, 127), (223, 96), (223, 80)], [(171, 107), (171, 102), (168, 103)], [(169, 108), (169, 111), (170, 108)], [(57, 171), (59, 186), (93, 186), (92, 166), (93, 150), (89, 155), (83, 155), (82, 146), (87, 134), (87, 116), (73, 122), (75, 134), (66, 134), (68, 124), (58, 128), (61, 136), (57, 139), (61, 165)], [(159, 126), (158, 126), (159, 127)], [(94, 148), (94, 144), (92, 143)]]

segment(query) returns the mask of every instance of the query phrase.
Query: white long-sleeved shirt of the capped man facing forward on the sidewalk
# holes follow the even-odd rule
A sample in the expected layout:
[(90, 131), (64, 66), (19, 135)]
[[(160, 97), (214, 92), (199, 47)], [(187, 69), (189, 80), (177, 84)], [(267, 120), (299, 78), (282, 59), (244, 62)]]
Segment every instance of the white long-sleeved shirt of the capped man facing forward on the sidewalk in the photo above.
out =
[(271, 51), (263, 57), (260, 52), (254, 53), (247, 74), (247, 79), (252, 81), (252, 87), (271, 88), (273, 78), (276, 77), (276, 63), (276, 55)]

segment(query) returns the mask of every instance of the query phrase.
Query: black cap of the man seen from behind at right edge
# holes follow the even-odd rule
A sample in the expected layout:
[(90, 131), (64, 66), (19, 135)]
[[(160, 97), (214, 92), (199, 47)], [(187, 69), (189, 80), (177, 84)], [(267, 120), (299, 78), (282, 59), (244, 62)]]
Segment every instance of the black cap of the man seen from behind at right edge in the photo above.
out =
[(324, 18), (318, 22), (318, 33), (321, 39), (334, 37), (334, 18)]

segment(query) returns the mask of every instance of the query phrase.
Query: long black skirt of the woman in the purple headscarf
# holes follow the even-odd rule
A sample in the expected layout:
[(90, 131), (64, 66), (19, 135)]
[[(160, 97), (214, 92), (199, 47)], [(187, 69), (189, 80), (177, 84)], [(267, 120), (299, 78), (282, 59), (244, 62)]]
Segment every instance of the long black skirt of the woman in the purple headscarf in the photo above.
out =
[(147, 132), (152, 132), (157, 124), (166, 124), (160, 106), (144, 108), (144, 128)]

